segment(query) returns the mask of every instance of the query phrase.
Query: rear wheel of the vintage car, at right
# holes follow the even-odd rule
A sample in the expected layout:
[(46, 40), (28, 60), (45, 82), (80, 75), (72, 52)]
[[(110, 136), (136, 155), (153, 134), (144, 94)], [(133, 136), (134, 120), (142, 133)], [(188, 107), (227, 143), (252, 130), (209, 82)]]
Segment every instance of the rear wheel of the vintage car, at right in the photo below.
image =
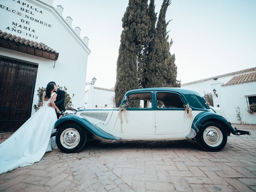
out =
[(224, 148), (227, 143), (227, 133), (216, 122), (203, 124), (202, 129), (196, 136), (196, 142), (207, 151), (215, 152)]

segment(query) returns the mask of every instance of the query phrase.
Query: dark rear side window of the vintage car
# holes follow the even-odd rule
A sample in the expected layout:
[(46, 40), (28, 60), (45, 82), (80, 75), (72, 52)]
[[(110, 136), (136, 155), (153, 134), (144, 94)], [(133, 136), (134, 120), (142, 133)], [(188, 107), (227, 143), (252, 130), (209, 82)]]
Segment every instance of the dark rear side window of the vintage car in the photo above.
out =
[(157, 108), (184, 108), (180, 96), (173, 93), (157, 93)]

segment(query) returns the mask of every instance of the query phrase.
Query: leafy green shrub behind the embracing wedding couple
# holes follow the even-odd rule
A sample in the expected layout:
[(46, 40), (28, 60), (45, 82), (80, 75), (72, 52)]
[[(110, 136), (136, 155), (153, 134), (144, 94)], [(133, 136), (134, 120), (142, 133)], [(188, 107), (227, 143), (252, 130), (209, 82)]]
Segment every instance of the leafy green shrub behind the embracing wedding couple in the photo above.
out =
[[(68, 93), (68, 89), (66, 88), (66, 86), (60, 87), (58, 86), (59, 89), (64, 90), (65, 92), (65, 102), (64, 102), (64, 106), (66, 109), (71, 109), (74, 107), (74, 105), (72, 104), (72, 98), (75, 96), (75, 94), (72, 94), (72, 96), (70, 96), (70, 94)], [(43, 102), (43, 93), (44, 91), (46, 91), (46, 88), (44, 87), (40, 87), (37, 90), (37, 96), (38, 96), (38, 103), (36, 105), (33, 106), (35, 111), (38, 111), (41, 102)]]

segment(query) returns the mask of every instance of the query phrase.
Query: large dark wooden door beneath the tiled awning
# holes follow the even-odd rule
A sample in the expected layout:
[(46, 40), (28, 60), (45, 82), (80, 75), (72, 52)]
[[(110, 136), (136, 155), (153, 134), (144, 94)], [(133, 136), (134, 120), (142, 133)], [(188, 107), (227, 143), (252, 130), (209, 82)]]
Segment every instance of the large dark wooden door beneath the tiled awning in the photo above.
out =
[(38, 66), (0, 58), (0, 132), (15, 132), (30, 118)]

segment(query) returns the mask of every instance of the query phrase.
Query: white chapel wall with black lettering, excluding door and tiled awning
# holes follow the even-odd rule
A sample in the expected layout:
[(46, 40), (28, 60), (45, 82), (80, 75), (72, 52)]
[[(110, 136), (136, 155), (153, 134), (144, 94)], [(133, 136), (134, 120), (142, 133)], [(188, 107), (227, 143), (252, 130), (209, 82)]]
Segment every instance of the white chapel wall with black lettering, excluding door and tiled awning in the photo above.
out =
[[(79, 35), (75, 34), (72, 28), (70, 28), (63, 18), (57, 14), (54, 8), (35, 0), (32, 0), (31, 2), (23, 0), (20, 2), (25, 2), (26, 4), (31, 5), (33, 8), (42, 10), (42, 13), (36, 12), (30, 8), (26, 8), (26, 6), (22, 6), (22, 4), (17, 3), (17, 1), (2, 0), (0, 2), (2, 5), (9, 7), (10, 10), (15, 10), (16, 13), (19, 11), (22, 15), (20, 16), (12, 11), (9, 12), (1, 8), (0, 29), (3, 32), (21, 36), (22, 38), (43, 42), (50, 48), (56, 50), (59, 53), (59, 58), (55, 63), (55, 68), (53, 68), (53, 60), (40, 58), (2, 47), (0, 48), (0, 55), (38, 64), (33, 105), (38, 102), (36, 90), (39, 87), (46, 87), (46, 84), (50, 81), (55, 81), (56, 84), (60, 86), (66, 86), (68, 93), (75, 94), (74, 98), (72, 99), (75, 108), (83, 106), (87, 58), (88, 54), (90, 54), (90, 50), (82, 42)], [(32, 11), (32, 14), (22, 11), (21, 8), (27, 9), (29, 12)], [(34, 22), (30, 19), (25, 19), (25, 14), (42, 20), (43, 22), (50, 24), (51, 27), (39, 24), (38, 22)], [(21, 22), (21, 19), (25, 21), (27, 20), (29, 24), (24, 24)], [(30, 27), (31, 30), (34, 29), (35, 32), (29, 32), (22, 28), (18, 28), (17, 26), (16, 28), (22, 30), (22, 33), (6, 29), (7, 27), (14, 26), (12, 25), (12, 22), (17, 23), (18, 25), (21, 24), (22, 27)], [(26, 35), (26, 32), (33, 34), (38, 38), (36, 39), (29, 37)], [(32, 114), (33, 113), (34, 110), (32, 110)]]

